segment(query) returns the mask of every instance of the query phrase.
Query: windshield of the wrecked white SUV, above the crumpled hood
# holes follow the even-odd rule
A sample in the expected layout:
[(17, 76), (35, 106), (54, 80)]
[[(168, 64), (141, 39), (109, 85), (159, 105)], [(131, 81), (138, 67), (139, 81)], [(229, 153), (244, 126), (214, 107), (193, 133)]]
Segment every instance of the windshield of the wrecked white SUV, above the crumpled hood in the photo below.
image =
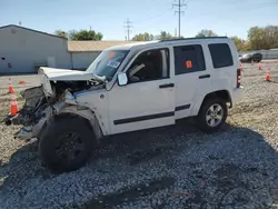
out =
[(102, 51), (86, 71), (110, 81), (128, 52), (129, 50)]

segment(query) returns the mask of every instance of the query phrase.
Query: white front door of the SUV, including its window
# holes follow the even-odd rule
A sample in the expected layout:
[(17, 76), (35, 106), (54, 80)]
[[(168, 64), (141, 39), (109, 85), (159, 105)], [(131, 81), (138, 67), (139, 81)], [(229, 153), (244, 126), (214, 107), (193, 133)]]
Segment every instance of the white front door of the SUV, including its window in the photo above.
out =
[(169, 73), (169, 49), (141, 52), (128, 67), (127, 86), (109, 91), (111, 133), (175, 123), (175, 83)]

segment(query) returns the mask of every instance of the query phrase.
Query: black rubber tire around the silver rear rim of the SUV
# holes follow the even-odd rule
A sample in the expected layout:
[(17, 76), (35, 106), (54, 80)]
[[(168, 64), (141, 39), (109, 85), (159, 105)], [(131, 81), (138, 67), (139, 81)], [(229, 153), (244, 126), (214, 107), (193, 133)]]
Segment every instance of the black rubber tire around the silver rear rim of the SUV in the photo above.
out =
[[(217, 104), (217, 106), (214, 106), (214, 104)], [(207, 113), (209, 112), (209, 108), (211, 108), (212, 106), (214, 107), (218, 107), (218, 106), (221, 107), (221, 111), (222, 111), (222, 117), (219, 120), (219, 123), (216, 122), (217, 119), (214, 119), (215, 125), (216, 125), (215, 127), (209, 126), (208, 125), (209, 122), (207, 122)], [(199, 125), (200, 129), (207, 133), (215, 132), (215, 131), (219, 130), (221, 128), (221, 126), (225, 123), (227, 116), (228, 116), (228, 108), (227, 108), (226, 101), (224, 99), (220, 99), (220, 98), (206, 99), (203, 101), (203, 103), (200, 108), (199, 115), (198, 115), (198, 125)], [(216, 116), (214, 116), (214, 117), (216, 117)]]

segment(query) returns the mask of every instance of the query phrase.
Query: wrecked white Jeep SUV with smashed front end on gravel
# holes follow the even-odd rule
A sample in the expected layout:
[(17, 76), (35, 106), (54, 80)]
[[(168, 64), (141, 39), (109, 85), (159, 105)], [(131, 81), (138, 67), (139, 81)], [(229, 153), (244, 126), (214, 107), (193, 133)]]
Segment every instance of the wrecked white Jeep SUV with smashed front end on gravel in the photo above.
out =
[(42, 161), (70, 171), (106, 136), (196, 117), (218, 130), (241, 97), (240, 66), (227, 37), (138, 42), (102, 51), (86, 71), (40, 68), (41, 86), (21, 92), (24, 107), (7, 125), (38, 138)]

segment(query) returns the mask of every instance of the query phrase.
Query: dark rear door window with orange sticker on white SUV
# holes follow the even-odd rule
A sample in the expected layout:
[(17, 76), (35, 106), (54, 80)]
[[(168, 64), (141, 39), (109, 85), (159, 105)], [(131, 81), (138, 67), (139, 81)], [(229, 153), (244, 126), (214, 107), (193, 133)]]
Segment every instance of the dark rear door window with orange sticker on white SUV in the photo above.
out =
[(200, 44), (173, 47), (175, 74), (206, 70), (203, 52)]

